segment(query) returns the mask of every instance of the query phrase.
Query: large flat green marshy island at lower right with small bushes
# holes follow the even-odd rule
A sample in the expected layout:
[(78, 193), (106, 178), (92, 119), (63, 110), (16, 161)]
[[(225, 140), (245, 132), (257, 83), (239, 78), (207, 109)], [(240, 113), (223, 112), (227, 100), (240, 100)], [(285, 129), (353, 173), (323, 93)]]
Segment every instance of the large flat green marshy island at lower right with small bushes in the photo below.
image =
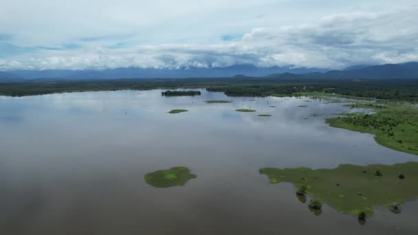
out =
[(261, 168), (270, 183), (289, 182), (308, 194), (345, 214), (367, 217), (373, 208), (393, 205), (418, 198), (418, 162), (393, 166), (340, 165), (334, 169)]

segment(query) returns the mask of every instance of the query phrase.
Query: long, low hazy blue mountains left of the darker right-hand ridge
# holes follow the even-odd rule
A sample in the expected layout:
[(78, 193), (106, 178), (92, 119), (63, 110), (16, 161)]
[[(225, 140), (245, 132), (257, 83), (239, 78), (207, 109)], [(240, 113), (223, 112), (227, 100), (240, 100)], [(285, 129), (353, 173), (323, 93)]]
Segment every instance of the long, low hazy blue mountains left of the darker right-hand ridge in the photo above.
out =
[(116, 79), (116, 78), (223, 78), (236, 74), (249, 77), (267, 76), (268, 74), (305, 74), (325, 72), (328, 69), (303, 67), (256, 67), (254, 65), (233, 65), (230, 67), (154, 69), (127, 67), (104, 70), (19, 70), (9, 71), (13, 76), (25, 79), (69, 78), (69, 79)]

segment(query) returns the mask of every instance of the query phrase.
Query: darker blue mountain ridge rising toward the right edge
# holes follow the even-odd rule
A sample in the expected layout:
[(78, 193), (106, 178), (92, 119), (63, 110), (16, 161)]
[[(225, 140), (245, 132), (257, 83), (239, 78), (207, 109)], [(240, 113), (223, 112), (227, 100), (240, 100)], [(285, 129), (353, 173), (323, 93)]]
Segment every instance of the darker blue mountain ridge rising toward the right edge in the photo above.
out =
[(353, 69), (349, 71), (329, 71), (328, 78), (418, 78), (418, 62), (387, 64)]

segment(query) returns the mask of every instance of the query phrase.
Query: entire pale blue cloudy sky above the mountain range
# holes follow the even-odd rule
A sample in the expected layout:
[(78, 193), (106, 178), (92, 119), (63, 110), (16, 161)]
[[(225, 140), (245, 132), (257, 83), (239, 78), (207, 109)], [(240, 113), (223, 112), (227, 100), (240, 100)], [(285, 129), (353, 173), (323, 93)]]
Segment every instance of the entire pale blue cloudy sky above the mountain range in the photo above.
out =
[(14, 0), (0, 71), (418, 61), (416, 0)]

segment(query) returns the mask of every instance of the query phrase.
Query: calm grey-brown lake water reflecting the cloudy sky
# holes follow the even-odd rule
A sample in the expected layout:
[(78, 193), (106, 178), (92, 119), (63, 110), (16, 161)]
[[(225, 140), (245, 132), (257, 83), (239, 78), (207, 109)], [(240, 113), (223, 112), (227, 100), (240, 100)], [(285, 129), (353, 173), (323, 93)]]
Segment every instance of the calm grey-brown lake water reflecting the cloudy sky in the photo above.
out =
[[(377, 208), (359, 225), (327, 205), (316, 216), (290, 183), (259, 175), (266, 166), (418, 161), (324, 122), (355, 109), (309, 98), (229, 98), (203, 89), (166, 98), (161, 91), (0, 97), (0, 234), (418, 234), (417, 201), (397, 215)], [(174, 188), (144, 182), (147, 172), (173, 166), (197, 179)]]

